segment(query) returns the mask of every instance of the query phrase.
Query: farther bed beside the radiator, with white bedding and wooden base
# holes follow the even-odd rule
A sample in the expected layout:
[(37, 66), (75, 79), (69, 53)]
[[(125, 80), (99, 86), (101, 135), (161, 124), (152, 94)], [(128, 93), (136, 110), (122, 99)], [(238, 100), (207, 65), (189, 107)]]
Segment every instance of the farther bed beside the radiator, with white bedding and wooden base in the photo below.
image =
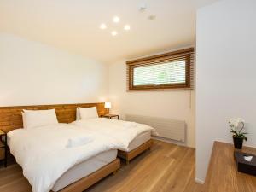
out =
[[(84, 118), (81, 110), (84, 110)], [(118, 156), (125, 159), (126, 164), (153, 145), (151, 135), (157, 135), (153, 127), (117, 119), (98, 118), (97, 114), (91, 114), (91, 110), (79, 108), (78, 120), (72, 125), (116, 139), (122, 146), (119, 148)]]

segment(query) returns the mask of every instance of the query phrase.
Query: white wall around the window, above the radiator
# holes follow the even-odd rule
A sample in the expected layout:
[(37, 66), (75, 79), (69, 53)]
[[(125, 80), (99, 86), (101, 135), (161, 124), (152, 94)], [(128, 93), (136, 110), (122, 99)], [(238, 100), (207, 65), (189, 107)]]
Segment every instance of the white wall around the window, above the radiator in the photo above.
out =
[(187, 145), (195, 147), (195, 96), (190, 90), (126, 91), (125, 61), (109, 66), (109, 97), (111, 111), (153, 117), (180, 119), (187, 122)]

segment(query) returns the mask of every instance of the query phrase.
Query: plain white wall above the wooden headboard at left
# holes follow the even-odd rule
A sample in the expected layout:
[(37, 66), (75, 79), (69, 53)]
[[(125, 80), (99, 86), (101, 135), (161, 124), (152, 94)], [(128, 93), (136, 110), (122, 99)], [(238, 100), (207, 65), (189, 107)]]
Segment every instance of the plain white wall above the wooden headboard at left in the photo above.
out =
[(0, 33), (0, 106), (102, 102), (108, 66)]

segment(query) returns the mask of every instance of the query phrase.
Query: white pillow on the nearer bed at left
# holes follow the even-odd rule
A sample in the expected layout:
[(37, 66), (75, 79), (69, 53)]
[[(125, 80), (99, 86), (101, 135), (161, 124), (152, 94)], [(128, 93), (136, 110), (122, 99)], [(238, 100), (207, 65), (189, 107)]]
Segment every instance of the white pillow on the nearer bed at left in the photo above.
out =
[(25, 113), (26, 129), (44, 125), (58, 124), (55, 109), (49, 110), (23, 110)]

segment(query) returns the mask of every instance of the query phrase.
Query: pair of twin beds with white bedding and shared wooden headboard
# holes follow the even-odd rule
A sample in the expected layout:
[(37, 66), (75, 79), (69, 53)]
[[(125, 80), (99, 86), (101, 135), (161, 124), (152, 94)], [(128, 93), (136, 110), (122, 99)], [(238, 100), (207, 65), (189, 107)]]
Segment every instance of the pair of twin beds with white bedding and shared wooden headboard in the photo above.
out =
[[(53, 108), (58, 122), (65, 124), (52, 120), (53, 125), (20, 129), (24, 122), (31, 125), (30, 121), (38, 118), (27, 111), (27, 118), (22, 120), (22, 110)], [(0, 108), (0, 128), (9, 132), (10, 152), (34, 192), (83, 191), (119, 169), (117, 155), (128, 164), (152, 146), (151, 133), (156, 134), (152, 127), (96, 118), (94, 110), (98, 116), (106, 113), (103, 103)]]

